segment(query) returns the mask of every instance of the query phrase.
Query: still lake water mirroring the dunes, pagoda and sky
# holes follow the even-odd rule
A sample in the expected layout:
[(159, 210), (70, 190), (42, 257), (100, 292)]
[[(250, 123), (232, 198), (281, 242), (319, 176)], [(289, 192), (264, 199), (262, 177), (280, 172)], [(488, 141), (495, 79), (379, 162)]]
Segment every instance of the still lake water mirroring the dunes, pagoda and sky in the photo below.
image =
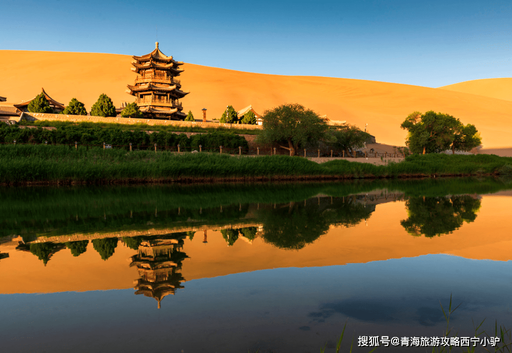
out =
[(432, 351), (451, 297), (449, 336), (512, 326), (510, 180), (0, 194), (2, 351)]

